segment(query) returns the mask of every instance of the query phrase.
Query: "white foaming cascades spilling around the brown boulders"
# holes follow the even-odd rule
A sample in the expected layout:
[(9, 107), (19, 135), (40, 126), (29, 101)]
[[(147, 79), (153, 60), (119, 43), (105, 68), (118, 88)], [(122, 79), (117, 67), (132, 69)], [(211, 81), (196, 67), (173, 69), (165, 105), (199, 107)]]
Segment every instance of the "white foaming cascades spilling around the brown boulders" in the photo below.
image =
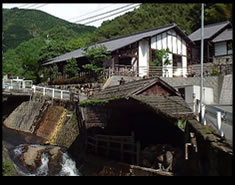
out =
[[(41, 145), (31, 145), (31, 146), (41, 146)], [(51, 146), (52, 147), (52, 146)], [(13, 161), (15, 162), (15, 167), (19, 175), (21, 176), (49, 176), (50, 169), (48, 164), (50, 162), (50, 155), (45, 151), (41, 154), (41, 165), (35, 170), (34, 173), (30, 173), (18, 160), (19, 156), (24, 153), (24, 144), (17, 146), (13, 150)], [(73, 161), (67, 152), (63, 152), (60, 160), (61, 170), (58, 174), (53, 174), (54, 176), (81, 176), (81, 173), (76, 168), (76, 163)]]

